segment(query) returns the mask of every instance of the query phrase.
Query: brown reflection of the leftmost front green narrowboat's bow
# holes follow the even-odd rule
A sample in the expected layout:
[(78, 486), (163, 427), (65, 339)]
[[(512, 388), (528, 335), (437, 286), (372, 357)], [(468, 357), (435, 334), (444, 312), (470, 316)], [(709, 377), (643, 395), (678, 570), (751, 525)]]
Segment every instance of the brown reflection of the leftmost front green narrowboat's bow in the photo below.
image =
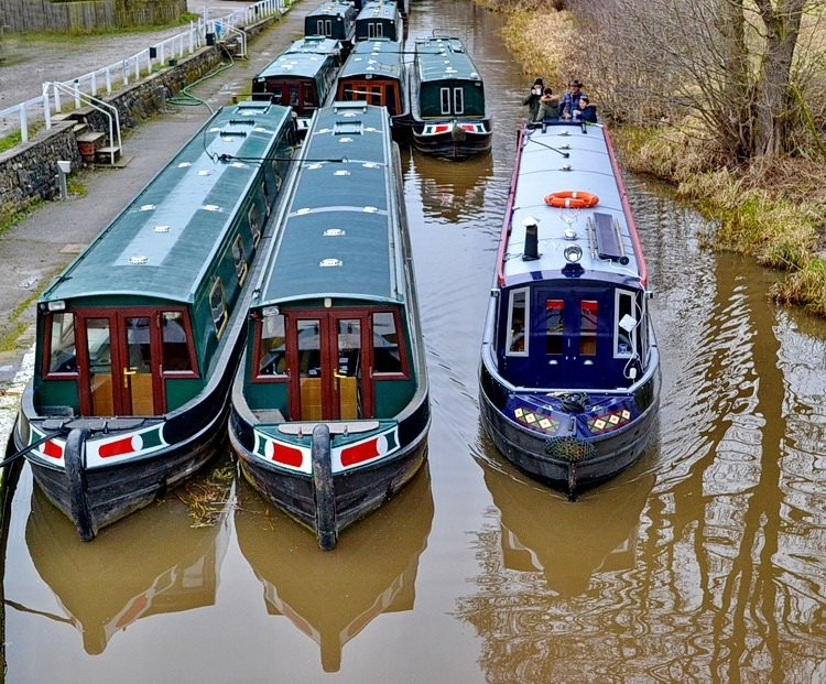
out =
[(135, 620), (211, 606), (229, 542), (227, 511), (211, 526), (193, 519), (171, 498), (124, 519), (117, 534), (80, 541), (75, 526), (39, 488), (25, 541), (41, 578), (51, 587), (67, 622), (81, 633), (90, 655)]

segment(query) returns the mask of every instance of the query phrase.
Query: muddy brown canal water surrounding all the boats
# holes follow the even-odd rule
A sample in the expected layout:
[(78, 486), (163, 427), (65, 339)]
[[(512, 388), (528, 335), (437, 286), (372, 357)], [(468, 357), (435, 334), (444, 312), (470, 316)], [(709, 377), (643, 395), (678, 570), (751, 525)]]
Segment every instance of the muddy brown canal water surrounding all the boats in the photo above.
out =
[(826, 681), (826, 324), (711, 226), (627, 177), (663, 358), (657, 435), (576, 502), (479, 424), (482, 319), (524, 76), (501, 18), (414, 2), (461, 35), (491, 156), (404, 154), (428, 350), (427, 467), (332, 553), (219, 467), (90, 544), (23, 470), (3, 567), (9, 682)]

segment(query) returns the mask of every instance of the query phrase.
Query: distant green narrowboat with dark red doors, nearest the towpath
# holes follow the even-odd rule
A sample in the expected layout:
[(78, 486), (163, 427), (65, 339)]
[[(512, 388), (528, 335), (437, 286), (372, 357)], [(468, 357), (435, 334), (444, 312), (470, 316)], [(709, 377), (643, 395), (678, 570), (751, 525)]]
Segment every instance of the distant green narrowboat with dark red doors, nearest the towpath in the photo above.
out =
[(292, 107), (303, 135), (315, 110), (333, 98), (340, 57), (337, 40), (295, 41), (252, 79), (252, 99)]

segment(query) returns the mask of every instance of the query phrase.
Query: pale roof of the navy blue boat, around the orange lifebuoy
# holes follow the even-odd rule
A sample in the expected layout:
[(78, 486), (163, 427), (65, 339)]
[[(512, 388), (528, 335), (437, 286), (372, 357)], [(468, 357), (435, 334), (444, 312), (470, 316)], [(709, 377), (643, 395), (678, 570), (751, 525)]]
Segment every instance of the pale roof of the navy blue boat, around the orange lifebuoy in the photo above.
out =
[[(520, 144), (514, 195), (499, 253), (500, 286), (567, 273), (644, 285), (645, 261), (608, 131), (600, 124), (561, 121), (544, 130), (524, 131)], [(591, 193), (599, 202), (582, 209), (545, 203), (548, 194), (567, 191)], [(539, 226), (540, 258), (535, 261), (522, 258), (526, 219), (536, 219)], [(578, 265), (584, 272), (576, 267), (563, 271), (568, 267), (565, 250), (572, 246), (582, 249)]]

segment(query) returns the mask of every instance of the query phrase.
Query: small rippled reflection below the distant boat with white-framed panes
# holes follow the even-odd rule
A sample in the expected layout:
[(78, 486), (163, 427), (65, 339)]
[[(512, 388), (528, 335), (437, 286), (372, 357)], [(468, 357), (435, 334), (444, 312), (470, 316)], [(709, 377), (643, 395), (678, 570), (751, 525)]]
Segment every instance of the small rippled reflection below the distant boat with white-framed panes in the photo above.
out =
[(422, 206), (426, 218), (439, 222), (455, 224), (476, 218), (485, 208), (485, 193), (489, 191), (489, 178), (493, 175), (493, 158), (490, 154), (467, 164), (450, 164), (424, 154), (412, 155), (410, 166), (415, 171), (405, 174), (417, 180), (422, 193)]

